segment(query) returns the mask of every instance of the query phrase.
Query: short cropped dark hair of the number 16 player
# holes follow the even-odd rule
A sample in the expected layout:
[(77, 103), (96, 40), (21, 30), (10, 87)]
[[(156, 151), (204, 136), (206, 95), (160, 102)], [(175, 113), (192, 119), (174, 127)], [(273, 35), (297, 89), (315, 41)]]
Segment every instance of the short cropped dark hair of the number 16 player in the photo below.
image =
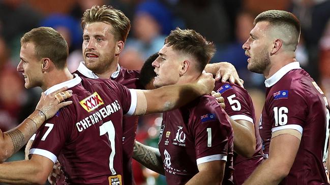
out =
[(283, 10), (268, 10), (261, 12), (254, 19), (253, 24), (257, 24), (260, 21), (267, 21), (273, 25), (293, 26), (297, 36), (299, 36), (301, 32), (301, 25), (298, 18), (292, 13)]

